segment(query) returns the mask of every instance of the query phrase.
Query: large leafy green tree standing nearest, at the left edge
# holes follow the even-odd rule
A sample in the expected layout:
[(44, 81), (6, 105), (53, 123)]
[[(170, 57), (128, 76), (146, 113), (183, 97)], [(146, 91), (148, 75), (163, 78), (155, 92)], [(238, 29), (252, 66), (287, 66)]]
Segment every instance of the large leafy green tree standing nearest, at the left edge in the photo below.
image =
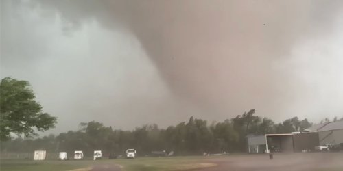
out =
[(10, 133), (37, 135), (56, 124), (56, 118), (43, 113), (42, 106), (34, 100), (28, 81), (5, 77), (0, 83), (0, 140), (8, 140)]

